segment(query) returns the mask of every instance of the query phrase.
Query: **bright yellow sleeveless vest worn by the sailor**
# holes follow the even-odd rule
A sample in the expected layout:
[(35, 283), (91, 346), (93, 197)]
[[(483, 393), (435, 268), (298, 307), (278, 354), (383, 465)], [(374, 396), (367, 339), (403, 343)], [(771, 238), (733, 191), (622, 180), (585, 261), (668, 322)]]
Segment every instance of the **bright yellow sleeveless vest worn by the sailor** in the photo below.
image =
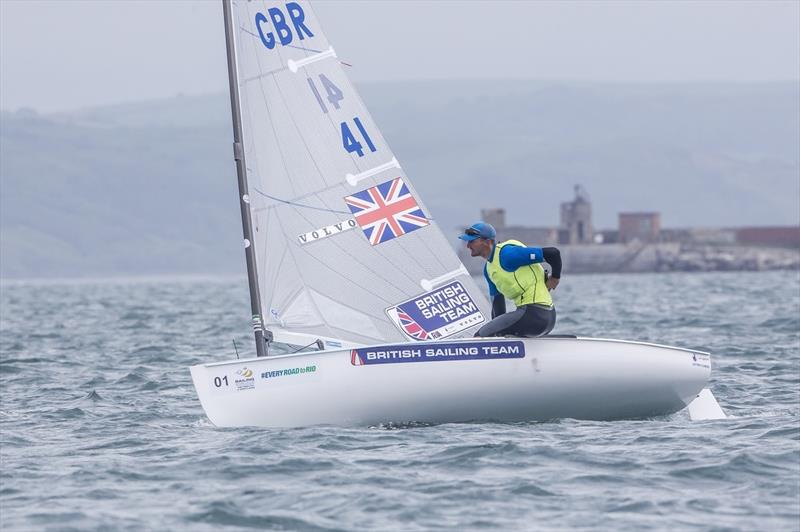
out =
[(525, 246), (519, 240), (506, 240), (495, 246), (492, 260), (486, 263), (486, 273), (492, 280), (497, 290), (512, 300), (516, 306), (553, 305), (553, 298), (547, 290), (544, 280), (544, 268), (541, 264), (520, 266), (513, 272), (508, 272), (500, 266), (500, 251), (504, 246)]

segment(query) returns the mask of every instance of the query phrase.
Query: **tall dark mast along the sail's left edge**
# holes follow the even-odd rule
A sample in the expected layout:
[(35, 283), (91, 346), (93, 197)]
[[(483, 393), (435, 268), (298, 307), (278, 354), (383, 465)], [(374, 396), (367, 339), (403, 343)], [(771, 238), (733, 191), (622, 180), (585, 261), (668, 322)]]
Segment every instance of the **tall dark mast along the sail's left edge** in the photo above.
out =
[(236, 160), (236, 175), (239, 178), (239, 206), (242, 214), (242, 233), (244, 234), (244, 256), (247, 262), (247, 282), (250, 286), (250, 310), (253, 315), (253, 331), (256, 336), (256, 356), (267, 356), (267, 341), (272, 334), (264, 331), (261, 315), (261, 296), (258, 291), (256, 257), (253, 250), (253, 224), (250, 219), (250, 200), (247, 189), (247, 165), (242, 145), (242, 110), (239, 104), (239, 76), (236, 63), (236, 44), (233, 31), (230, 0), (222, 0), (225, 17), (225, 45), (228, 55), (228, 84), (231, 95), (231, 115), (233, 118), (233, 158)]

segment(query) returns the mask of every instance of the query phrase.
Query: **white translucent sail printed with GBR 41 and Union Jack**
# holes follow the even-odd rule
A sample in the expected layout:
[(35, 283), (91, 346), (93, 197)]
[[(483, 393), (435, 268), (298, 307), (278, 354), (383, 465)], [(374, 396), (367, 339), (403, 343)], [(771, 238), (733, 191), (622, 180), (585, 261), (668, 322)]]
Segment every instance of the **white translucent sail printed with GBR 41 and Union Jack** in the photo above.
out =
[(267, 328), (362, 344), (471, 336), (488, 302), (311, 6), (240, 0), (233, 14)]

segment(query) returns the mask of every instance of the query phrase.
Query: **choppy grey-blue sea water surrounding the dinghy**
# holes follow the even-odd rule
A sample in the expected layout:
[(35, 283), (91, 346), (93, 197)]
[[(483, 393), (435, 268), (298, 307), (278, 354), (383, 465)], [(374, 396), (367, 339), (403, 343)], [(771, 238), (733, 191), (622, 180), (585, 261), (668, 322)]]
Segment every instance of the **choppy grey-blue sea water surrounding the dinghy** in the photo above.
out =
[(1, 292), (3, 530), (800, 530), (796, 271), (556, 290), (554, 333), (710, 351), (707, 422), (219, 429), (188, 367), (253, 354), (244, 279)]

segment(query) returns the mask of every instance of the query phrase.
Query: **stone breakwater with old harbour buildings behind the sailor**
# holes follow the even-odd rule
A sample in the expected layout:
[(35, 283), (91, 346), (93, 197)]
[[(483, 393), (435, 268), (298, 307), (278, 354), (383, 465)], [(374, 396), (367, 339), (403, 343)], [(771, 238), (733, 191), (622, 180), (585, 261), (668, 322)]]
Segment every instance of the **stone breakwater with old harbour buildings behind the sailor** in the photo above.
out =
[[(673, 229), (662, 227), (659, 212), (621, 212), (616, 228), (596, 230), (581, 185), (560, 214), (557, 227), (530, 227), (508, 225), (503, 208), (481, 209), (498, 242), (558, 246), (565, 273), (800, 269), (798, 226)], [(463, 246), (457, 251), (470, 273), (481, 274), (482, 259)]]

